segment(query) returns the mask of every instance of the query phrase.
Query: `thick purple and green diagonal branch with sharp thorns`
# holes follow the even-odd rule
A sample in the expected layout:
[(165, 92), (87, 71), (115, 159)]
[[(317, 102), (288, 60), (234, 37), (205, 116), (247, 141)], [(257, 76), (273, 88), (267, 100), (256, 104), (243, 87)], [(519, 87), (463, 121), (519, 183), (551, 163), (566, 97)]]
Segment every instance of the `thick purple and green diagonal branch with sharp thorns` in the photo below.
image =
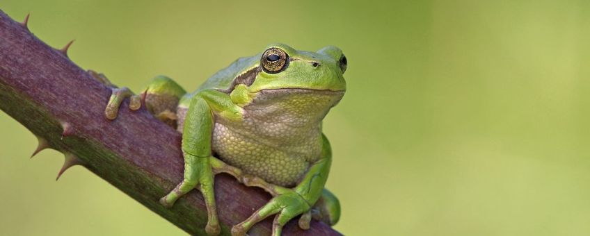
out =
[[(173, 208), (158, 203), (182, 179), (180, 134), (152, 117), (147, 110), (120, 110), (115, 121), (104, 118), (111, 90), (67, 58), (67, 49), (54, 49), (32, 35), (23, 23), (0, 10), (0, 109), (38, 137), (43, 149), (65, 154), (63, 174), (82, 165), (150, 210), (192, 235), (205, 234), (207, 212), (198, 192), (183, 197)], [(230, 176), (217, 176), (216, 200), (222, 234), (246, 219), (270, 196), (245, 187)], [(250, 230), (269, 235), (271, 219)], [(292, 221), (285, 235), (340, 235), (312, 221), (301, 230)]]

